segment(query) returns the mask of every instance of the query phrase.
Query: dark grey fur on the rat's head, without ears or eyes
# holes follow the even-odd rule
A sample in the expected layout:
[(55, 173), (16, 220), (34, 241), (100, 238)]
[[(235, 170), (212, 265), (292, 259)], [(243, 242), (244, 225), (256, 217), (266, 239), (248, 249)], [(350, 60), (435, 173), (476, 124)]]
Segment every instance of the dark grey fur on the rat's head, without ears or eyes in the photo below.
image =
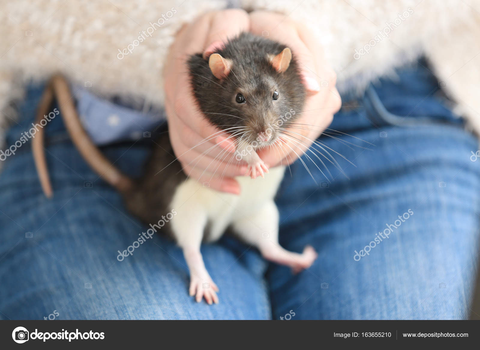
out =
[[(306, 93), (294, 53), (290, 66), (283, 73), (277, 72), (268, 60), (268, 55), (275, 56), (284, 48), (285, 45), (264, 37), (240, 34), (228, 41), (225, 48), (216, 51), (233, 61), (231, 72), (222, 80), (212, 74), (208, 60), (204, 60), (201, 54), (193, 55), (188, 62), (192, 87), (205, 117), (221, 129), (227, 128), (226, 125), (251, 127), (252, 142), (257, 133), (290, 109), (300, 112)], [(276, 101), (272, 100), (274, 91), (279, 93)], [(247, 103), (235, 102), (238, 93), (243, 94)]]

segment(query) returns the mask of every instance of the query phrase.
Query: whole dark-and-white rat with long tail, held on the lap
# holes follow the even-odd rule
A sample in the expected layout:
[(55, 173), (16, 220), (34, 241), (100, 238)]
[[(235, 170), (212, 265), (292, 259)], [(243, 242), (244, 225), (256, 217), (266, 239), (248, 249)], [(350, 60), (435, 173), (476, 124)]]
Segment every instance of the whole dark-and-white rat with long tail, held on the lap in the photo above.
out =
[[(205, 299), (212, 304), (218, 302), (218, 287), (204, 265), (200, 246), (202, 241), (217, 241), (227, 229), (258, 248), (266, 260), (289, 266), (294, 273), (310, 267), (317, 258), (310, 245), (302, 253), (280, 246), (274, 197), (285, 166), (268, 169), (256, 152), (284, 142), (282, 130), (302, 111), (306, 90), (291, 50), (250, 33), (229, 39), (207, 58), (201, 53), (192, 55), (187, 65), (199, 109), (207, 121), (235, 140), (235, 160), (248, 164), (246, 176), (236, 178), (239, 195), (215, 191), (189, 178), (174, 156), (168, 132), (156, 140), (158, 147), (140, 179), (122, 174), (85, 133), (61, 76), (54, 76), (48, 84), (37, 118), (56, 93), (73, 143), (89, 165), (122, 193), (128, 210), (147, 224), (156, 223), (162, 214), (176, 213), (162, 230), (183, 251), (190, 272), (189, 294), (197, 302)], [(51, 197), (42, 143), (43, 131), (34, 139), (33, 153), (42, 188)]]

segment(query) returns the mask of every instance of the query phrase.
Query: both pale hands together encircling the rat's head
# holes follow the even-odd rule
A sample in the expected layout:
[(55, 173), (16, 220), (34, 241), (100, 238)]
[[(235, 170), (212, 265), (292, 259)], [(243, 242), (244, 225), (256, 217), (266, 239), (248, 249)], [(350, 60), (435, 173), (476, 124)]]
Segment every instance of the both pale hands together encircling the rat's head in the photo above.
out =
[(304, 111), (297, 121), (308, 127), (294, 130), (302, 142), (286, 139), (280, 150), (259, 150), (258, 156), (266, 168), (293, 163), (328, 127), (341, 106), (336, 74), (325, 62), (318, 40), (305, 26), (288, 17), (273, 12), (224, 10), (204, 14), (184, 26), (170, 48), (164, 71), (170, 141), (189, 177), (233, 194), (240, 193), (234, 177), (251, 174), (252, 165), (231, 161), (236, 150), (234, 138), (209, 124), (198, 110), (185, 61), (198, 52), (209, 56), (227, 38), (243, 31), (259, 36), (268, 33), (268, 38), (288, 45), (300, 62), (308, 91)]

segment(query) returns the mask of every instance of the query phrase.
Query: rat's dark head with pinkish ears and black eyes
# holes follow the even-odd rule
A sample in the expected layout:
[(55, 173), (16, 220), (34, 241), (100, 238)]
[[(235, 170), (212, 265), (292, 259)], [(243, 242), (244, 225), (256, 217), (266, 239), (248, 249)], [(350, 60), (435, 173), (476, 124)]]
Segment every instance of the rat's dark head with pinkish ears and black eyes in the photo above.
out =
[(208, 62), (197, 57), (190, 65), (205, 117), (255, 148), (272, 145), (303, 107), (305, 89), (297, 63), (289, 48), (271, 40), (240, 36)]

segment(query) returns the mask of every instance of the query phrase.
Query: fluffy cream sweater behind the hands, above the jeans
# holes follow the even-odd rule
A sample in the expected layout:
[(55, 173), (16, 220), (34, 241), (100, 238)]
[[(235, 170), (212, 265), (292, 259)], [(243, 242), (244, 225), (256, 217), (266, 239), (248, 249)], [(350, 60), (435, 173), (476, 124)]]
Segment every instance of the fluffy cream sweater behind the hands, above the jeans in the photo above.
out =
[[(347, 81), (361, 89), (425, 55), (458, 103), (458, 113), (480, 132), (480, 1), (238, 3), (310, 26), (338, 74), (340, 90)], [(47, 79), (53, 72), (105, 97), (162, 105), (162, 65), (174, 34), (195, 16), (227, 6), (225, 0), (0, 0), (0, 134), (15, 118), (9, 106), (21, 97), (25, 82)], [(135, 42), (143, 30), (150, 36)], [(124, 49), (128, 54), (122, 57)]]

